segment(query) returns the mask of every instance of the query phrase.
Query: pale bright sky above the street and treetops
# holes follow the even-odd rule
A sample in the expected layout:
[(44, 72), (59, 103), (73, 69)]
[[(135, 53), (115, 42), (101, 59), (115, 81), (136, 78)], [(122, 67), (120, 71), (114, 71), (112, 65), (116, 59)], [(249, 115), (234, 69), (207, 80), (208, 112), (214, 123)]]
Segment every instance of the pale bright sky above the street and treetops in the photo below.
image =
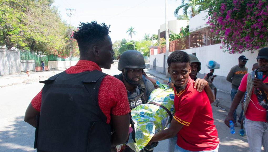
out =
[[(80, 22), (96, 20), (111, 25), (109, 34), (112, 41), (126, 38), (131, 40), (126, 31), (131, 26), (136, 31), (133, 40), (141, 40), (150, 33), (158, 34), (161, 24), (165, 23), (165, 0), (54, 0), (62, 20), (69, 23), (66, 8), (72, 11), (71, 25), (77, 27)], [(176, 20), (174, 10), (181, 4), (180, 0), (168, 0), (168, 20)], [(182, 10), (180, 10), (182, 14)]]

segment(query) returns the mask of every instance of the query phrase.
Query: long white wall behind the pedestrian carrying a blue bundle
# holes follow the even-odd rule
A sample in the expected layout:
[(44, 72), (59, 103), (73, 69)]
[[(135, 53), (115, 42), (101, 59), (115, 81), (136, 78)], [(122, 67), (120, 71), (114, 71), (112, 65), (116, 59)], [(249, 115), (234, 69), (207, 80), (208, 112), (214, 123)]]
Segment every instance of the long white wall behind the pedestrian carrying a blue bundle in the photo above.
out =
[(248, 73), (251, 72), (252, 65), (257, 63), (256, 57), (258, 56), (258, 51), (251, 54), (250, 52), (244, 52), (242, 54), (229, 54), (227, 52), (223, 52), (220, 49), (221, 44), (203, 46), (198, 48), (186, 49), (183, 50), (188, 54), (196, 53), (196, 57), (201, 62), (201, 70), (198, 73), (199, 78), (204, 78), (206, 73), (209, 73), (209, 69), (206, 67), (206, 63), (210, 60), (214, 60), (220, 64), (220, 69), (215, 69), (214, 75), (215, 77), (213, 84), (221, 90), (230, 91), (231, 83), (226, 80), (226, 76), (228, 75), (230, 69), (238, 65), (238, 57), (241, 55), (246, 56), (249, 60), (246, 64), (248, 68)]

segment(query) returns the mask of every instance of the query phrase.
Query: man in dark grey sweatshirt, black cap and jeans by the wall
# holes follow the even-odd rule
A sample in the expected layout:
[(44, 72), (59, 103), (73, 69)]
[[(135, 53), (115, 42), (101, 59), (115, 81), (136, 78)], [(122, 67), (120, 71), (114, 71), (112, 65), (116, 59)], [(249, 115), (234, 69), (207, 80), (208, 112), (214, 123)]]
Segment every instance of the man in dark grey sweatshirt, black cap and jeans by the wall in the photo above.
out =
[[(232, 90), (231, 90), (231, 100), (233, 102), (233, 99), (235, 98), (235, 95), (238, 91), (238, 87), (240, 85), (240, 82), (245, 74), (248, 73), (248, 68), (245, 67), (248, 59), (242, 55), (238, 58), (238, 65), (235, 65), (234, 67), (231, 68), (230, 72), (227, 75), (226, 80), (232, 83)], [(236, 110), (233, 113), (234, 117), (234, 126), (237, 127), (236, 124)]]

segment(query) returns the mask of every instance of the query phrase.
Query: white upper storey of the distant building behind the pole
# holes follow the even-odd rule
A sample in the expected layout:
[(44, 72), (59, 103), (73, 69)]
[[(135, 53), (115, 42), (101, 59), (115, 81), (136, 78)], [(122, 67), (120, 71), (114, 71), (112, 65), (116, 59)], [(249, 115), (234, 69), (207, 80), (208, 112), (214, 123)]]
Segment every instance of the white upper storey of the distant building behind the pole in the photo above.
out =
[[(168, 21), (169, 34), (171, 34), (171, 32), (179, 34), (181, 27), (186, 28), (187, 25), (188, 25), (187, 20), (171, 20), (171, 21)], [(165, 30), (166, 30), (166, 24), (160, 25), (160, 32), (163, 32)]]

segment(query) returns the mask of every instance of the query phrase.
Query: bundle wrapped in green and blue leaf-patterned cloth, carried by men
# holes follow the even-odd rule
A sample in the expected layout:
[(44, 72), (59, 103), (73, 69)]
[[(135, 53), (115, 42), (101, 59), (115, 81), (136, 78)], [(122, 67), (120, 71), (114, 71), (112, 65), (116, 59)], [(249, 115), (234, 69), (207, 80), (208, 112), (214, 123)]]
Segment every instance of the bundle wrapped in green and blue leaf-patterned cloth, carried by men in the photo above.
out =
[[(141, 104), (131, 110), (132, 120), (135, 122), (136, 143), (129, 142), (126, 145), (134, 151), (142, 150), (155, 133), (164, 130), (169, 122), (170, 116), (163, 108), (149, 104), (154, 102), (166, 107), (174, 115), (174, 91), (168, 85), (157, 81), (158, 89), (152, 91), (147, 104)], [(122, 151), (123, 145), (117, 146), (117, 151)]]

